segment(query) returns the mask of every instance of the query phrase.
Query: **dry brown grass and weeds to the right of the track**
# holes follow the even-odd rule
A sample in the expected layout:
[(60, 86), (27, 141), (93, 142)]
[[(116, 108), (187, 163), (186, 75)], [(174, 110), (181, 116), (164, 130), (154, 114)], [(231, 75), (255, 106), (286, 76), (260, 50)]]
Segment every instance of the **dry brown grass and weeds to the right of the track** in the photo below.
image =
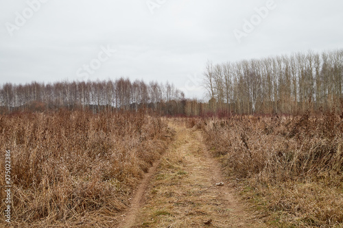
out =
[(342, 227), (343, 121), (322, 116), (191, 120), (237, 190), (279, 227)]

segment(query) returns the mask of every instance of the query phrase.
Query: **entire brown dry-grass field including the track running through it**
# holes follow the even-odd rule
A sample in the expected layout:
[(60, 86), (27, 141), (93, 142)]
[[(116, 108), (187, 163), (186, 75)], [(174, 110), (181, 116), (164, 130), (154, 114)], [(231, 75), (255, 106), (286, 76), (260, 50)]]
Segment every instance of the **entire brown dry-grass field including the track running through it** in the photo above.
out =
[[(343, 226), (343, 121), (334, 113), (60, 110), (2, 115), (0, 130), (0, 150), (11, 151), (12, 227)], [(1, 199), (4, 177), (1, 168)]]

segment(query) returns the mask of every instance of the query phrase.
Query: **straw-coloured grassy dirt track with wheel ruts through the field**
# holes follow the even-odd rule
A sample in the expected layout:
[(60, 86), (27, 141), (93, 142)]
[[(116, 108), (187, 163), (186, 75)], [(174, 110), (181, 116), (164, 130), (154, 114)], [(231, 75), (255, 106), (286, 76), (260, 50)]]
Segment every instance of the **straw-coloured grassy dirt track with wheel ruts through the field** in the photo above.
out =
[(267, 227), (235, 197), (201, 132), (169, 125), (176, 140), (147, 173), (119, 227)]

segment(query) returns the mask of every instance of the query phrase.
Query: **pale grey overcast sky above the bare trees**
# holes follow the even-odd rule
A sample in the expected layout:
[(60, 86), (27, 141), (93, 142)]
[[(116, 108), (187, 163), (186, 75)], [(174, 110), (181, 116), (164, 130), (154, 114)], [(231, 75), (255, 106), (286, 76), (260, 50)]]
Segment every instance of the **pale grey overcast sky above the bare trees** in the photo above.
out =
[(343, 1), (1, 0), (0, 84), (169, 81), (214, 63), (343, 47)]

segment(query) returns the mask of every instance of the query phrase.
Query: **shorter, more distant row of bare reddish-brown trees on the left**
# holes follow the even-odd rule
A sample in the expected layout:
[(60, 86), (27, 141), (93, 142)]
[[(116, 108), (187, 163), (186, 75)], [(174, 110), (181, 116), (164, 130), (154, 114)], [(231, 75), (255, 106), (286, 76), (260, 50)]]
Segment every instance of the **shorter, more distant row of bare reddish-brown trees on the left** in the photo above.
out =
[(163, 114), (176, 114), (185, 94), (174, 84), (145, 83), (121, 77), (107, 81), (61, 81), (52, 84), (11, 84), (0, 87), (1, 112), (90, 108), (99, 110), (138, 110), (149, 107)]

